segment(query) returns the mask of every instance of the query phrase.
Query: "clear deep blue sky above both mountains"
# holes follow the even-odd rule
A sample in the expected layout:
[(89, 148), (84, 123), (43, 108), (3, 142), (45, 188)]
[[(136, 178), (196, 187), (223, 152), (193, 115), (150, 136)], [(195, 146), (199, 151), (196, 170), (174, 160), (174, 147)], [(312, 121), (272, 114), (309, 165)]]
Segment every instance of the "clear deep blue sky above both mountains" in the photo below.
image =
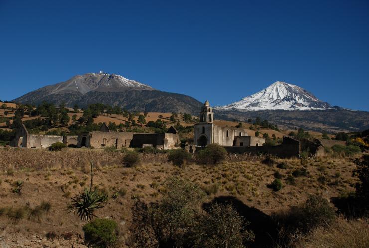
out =
[(280, 80), (369, 111), (369, 1), (0, 0), (0, 99), (100, 70), (211, 105)]

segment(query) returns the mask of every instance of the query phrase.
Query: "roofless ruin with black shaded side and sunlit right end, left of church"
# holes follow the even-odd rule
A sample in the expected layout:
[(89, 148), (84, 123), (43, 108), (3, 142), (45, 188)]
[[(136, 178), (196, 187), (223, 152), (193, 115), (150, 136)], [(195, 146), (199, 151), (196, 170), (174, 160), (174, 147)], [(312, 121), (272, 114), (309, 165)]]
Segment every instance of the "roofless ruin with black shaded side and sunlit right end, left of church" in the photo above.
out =
[(174, 149), (176, 145), (180, 144), (178, 134), (173, 133), (147, 133), (147, 134), (134, 134), (131, 146), (143, 147), (144, 145), (152, 145), (159, 149)]

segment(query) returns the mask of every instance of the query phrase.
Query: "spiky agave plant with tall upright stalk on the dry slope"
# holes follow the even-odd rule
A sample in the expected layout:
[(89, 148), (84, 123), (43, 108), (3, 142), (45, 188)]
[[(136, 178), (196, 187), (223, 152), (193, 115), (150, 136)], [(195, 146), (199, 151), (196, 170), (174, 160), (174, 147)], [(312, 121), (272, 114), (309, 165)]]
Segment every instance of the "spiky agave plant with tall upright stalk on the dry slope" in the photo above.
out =
[(84, 192), (72, 198), (70, 206), (71, 211), (77, 211), (77, 215), (81, 220), (91, 221), (96, 217), (94, 211), (105, 206), (108, 195), (100, 192), (98, 189), (92, 190), (92, 161), (91, 161), (91, 184), (90, 189), (85, 188)]

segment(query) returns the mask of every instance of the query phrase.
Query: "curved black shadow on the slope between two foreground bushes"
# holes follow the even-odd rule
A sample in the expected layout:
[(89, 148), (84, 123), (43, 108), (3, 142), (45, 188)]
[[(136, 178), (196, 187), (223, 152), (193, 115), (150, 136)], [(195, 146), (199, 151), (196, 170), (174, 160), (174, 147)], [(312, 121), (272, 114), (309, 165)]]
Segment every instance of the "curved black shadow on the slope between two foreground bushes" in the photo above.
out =
[(232, 196), (215, 197), (210, 203), (203, 204), (203, 209), (207, 209), (212, 203), (231, 204), (233, 208), (247, 221), (250, 225), (246, 229), (250, 229), (255, 234), (255, 242), (248, 244), (249, 248), (268, 248), (273, 247), (274, 241), (277, 240), (277, 227), (271, 217), (264, 212), (249, 207), (242, 201)]

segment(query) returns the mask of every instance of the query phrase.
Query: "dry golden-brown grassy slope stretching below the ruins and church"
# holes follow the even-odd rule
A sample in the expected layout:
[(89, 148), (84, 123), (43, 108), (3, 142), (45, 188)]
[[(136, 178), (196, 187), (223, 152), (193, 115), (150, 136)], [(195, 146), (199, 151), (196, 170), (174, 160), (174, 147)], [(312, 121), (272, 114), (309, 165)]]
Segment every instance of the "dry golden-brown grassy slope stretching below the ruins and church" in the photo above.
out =
[[(352, 158), (272, 158), (266, 165), (262, 163), (264, 157), (232, 155), (217, 166), (189, 164), (179, 168), (169, 164), (167, 156), (144, 153), (141, 165), (125, 168), (121, 151), (0, 149), (0, 226), (4, 227), (0, 245), (1, 236), (15, 244), (11, 242), (21, 239), (16, 238), (19, 232), (27, 241), (32, 241), (33, 236), (41, 237), (42, 244), (50, 243), (45, 239), (50, 232), (59, 238), (72, 231), (82, 235), (85, 222), (68, 213), (67, 206), (71, 197), (89, 185), (91, 160), (96, 166), (94, 186), (110, 196), (107, 206), (96, 214), (119, 224), (121, 244), (130, 244), (133, 204), (138, 199), (150, 202), (160, 198), (166, 190), (167, 177), (179, 176), (199, 184), (208, 195), (207, 202), (214, 197), (233, 196), (267, 215), (301, 203), (309, 194), (330, 199), (353, 191), (357, 181), (352, 177)], [(306, 169), (305, 174), (295, 172), (302, 169)], [(280, 178), (283, 185), (276, 192), (268, 187), (275, 178)], [(20, 181), (21, 193), (16, 193), (14, 189)], [(36, 211), (36, 217), (29, 217), (30, 210), (42, 202), (49, 202), (51, 209), (42, 215)], [(11, 217), (9, 213), (16, 210), (18, 217)]]

